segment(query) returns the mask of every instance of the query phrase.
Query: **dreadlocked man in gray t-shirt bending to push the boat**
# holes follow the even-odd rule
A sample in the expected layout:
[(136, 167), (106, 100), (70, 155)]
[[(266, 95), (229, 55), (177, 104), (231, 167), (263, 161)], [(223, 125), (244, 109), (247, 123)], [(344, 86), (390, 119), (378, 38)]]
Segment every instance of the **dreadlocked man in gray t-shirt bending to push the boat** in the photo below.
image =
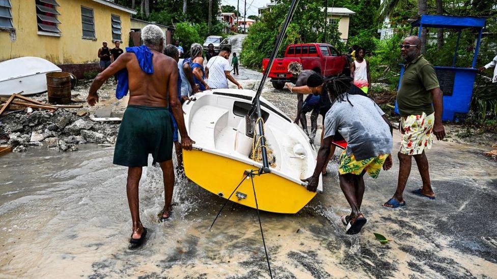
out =
[(352, 208), (350, 215), (342, 216), (342, 222), (347, 234), (356, 234), (366, 224), (361, 213), (364, 174), (367, 172), (376, 178), (381, 168), (388, 170), (392, 167), (392, 125), (373, 100), (347, 93), (350, 80), (349, 77), (336, 77), (327, 81), (332, 107), (324, 117), (323, 143), (313, 175), (302, 181), (308, 182), (309, 191), (316, 191), (332, 140), (337, 132), (340, 133), (347, 141), (338, 169), (340, 188)]

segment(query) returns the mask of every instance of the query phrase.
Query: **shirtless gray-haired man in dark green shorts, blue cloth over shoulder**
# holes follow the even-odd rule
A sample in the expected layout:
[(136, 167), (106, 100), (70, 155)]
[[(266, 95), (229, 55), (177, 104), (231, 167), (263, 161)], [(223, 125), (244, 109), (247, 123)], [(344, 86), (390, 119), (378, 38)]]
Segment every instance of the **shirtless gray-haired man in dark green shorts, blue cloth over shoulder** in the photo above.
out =
[[(162, 30), (153, 24), (142, 30), (144, 46), (135, 47), (133, 52), (126, 52), (98, 74), (93, 81), (87, 98), (88, 104), (98, 102), (97, 90), (119, 70), (126, 69), (129, 78), (129, 102), (124, 113), (114, 151), (114, 164), (128, 167), (126, 194), (133, 222), (132, 244), (141, 244), (147, 229), (140, 221), (138, 184), (142, 177), (142, 167), (147, 166), (148, 154), (152, 153), (153, 164), (158, 162), (164, 179), (165, 205), (161, 219), (170, 215), (173, 195), (174, 171), (172, 162), (173, 129), (171, 114), (178, 123), (181, 135), (181, 147), (191, 150), (195, 143), (186, 133), (183, 111), (178, 100), (178, 66), (176, 61), (162, 54), (164, 37)], [(147, 65), (153, 67), (153, 73), (142, 70), (137, 56), (149, 59)], [(144, 63), (147, 64), (147, 61)], [(165, 86), (164, 86), (165, 85)]]

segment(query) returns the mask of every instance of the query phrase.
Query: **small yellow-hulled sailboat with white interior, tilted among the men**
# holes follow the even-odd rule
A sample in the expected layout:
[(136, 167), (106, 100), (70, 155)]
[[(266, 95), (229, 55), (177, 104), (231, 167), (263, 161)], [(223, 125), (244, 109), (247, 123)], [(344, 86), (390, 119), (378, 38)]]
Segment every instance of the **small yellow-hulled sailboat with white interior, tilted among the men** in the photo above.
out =
[[(183, 104), (185, 125), (195, 149), (183, 151), (185, 174), (200, 187), (229, 198), (245, 170), (259, 170), (251, 159), (254, 138), (246, 135), (245, 115), (256, 96), (252, 90), (215, 89)], [(266, 145), (274, 164), (270, 172), (254, 176), (259, 209), (296, 213), (315, 195), (300, 179), (310, 177), (316, 152), (307, 135), (280, 109), (260, 98)], [(257, 127), (256, 127), (257, 129)], [(299, 151), (294, 151), (299, 149)], [(320, 179), (318, 191), (322, 191)], [(245, 179), (231, 201), (256, 208), (250, 179)]]

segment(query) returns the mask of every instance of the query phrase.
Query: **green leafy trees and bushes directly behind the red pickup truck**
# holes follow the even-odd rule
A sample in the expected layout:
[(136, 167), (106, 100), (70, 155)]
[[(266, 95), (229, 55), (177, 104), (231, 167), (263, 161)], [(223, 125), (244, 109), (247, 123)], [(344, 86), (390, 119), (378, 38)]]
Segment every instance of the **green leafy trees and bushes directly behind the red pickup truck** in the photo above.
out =
[[(264, 19), (250, 27), (243, 42), (240, 59), (242, 64), (253, 69), (260, 69), (262, 59), (271, 54), (276, 38), (290, 7), (289, 0), (278, 0), (271, 13), (264, 14)], [(324, 12), (320, 0), (302, 0), (299, 2), (291, 23), (288, 26), (282, 47), (281, 57), (289, 44), (318, 43), (324, 38)], [(339, 50), (344, 49), (337, 25), (327, 26), (326, 42)]]

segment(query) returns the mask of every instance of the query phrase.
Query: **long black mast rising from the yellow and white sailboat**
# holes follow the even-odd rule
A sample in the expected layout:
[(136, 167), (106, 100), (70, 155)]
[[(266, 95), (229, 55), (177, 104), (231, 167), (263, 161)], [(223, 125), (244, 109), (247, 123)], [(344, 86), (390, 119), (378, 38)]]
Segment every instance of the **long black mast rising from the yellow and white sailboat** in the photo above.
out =
[[(266, 71), (264, 75), (262, 76), (261, 83), (259, 84), (259, 88), (257, 88), (257, 93), (254, 96), (254, 99), (252, 99), (252, 108), (248, 112), (248, 116), (251, 116), (254, 114), (254, 112), (257, 113), (257, 118), (262, 117), (262, 112), (261, 112), (261, 103), (259, 98), (261, 97), (262, 94), (262, 88), (264, 87), (264, 83), (266, 82), (267, 76), (269, 75), (269, 71), (272, 67), (272, 64), (274, 62), (274, 59), (276, 58), (276, 55), (278, 54), (278, 50), (280, 49), (281, 43), (283, 42), (283, 36), (285, 36), (286, 30), (288, 28), (288, 25), (290, 24), (290, 21), (293, 18), (293, 14), (295, 13), (295, 8), (297, 7), (298, 0), (292, 0), (292, 4), (290, 5), (290, 8), (288, 10), (287, 17), (285, 21), (283, 22), (283, 26), (280, 30), (280, 34), (276, 38), (276, 44), (274, 45), (274, 49), (272, 50), (271, 56), (269, 57), (269, 63), (267, 64)], [(266, 150), (266, 138), (264, 137), (264, 127), (262, 121), (256, 121), (259, 126), (259, 135), (261, 137), (261, 150), (262, 150), (262, 166), (263, 166), (263, 173), (269, 172), (269, 164), (267, 162), (267, 150)]]

